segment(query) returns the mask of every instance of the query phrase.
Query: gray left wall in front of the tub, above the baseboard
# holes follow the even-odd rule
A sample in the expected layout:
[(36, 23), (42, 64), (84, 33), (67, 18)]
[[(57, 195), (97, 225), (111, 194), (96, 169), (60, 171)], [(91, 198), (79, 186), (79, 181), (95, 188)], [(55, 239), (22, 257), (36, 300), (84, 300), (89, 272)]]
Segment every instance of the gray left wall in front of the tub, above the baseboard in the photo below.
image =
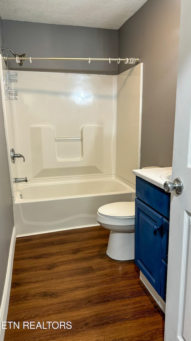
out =
[[(3, 43), (0, 19), (0, 44)], [(13, 232), (13, 207), (8, 170), (3, 107), (0, 88), (0, 304), (5, 284), (11, 236)]]

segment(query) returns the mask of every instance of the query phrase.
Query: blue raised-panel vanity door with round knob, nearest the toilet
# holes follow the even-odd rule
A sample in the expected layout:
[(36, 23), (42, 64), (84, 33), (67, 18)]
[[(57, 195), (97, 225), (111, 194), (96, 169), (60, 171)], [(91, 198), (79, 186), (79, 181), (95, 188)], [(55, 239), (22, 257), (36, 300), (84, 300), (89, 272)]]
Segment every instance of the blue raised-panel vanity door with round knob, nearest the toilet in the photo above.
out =
[(160, 295), (163, 217), (135, 199), (135, 263)]

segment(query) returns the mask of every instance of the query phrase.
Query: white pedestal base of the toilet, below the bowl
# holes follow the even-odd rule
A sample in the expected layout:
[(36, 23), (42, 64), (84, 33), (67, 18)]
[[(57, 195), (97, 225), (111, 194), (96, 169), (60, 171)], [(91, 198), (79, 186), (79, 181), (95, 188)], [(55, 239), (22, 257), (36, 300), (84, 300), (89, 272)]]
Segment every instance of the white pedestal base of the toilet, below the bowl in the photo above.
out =
[(135, 259), (135, 232), (110, 231), (106, 254), (116, 261)]

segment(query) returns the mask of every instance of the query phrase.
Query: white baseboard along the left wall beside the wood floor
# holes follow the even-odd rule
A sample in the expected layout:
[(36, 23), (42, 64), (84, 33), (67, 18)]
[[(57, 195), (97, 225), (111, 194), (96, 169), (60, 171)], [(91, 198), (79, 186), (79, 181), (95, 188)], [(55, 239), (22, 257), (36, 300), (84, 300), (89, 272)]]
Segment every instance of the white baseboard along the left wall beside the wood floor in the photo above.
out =
[[(12, 280), (12, 272), (13, 272), (15, 242), (16, 242), (16, 229), (14, 226), (12, 237), (11, 237), (9, 256), (8, 256), (8, 264), (7, 264), (5, 285), (4, 285), (4, 290), (3, 290), (3, 297), (1, 301), (1, 307), (0, 307), (0, 322), (7, 321), (8, 303), (9, 303), (9, 298), (10, 298), (11, 280)], [(4, 334), (5, 334), (5, 329), (1, 329), (1, 323), (0, 323), (0, 341), (4, 340)]]

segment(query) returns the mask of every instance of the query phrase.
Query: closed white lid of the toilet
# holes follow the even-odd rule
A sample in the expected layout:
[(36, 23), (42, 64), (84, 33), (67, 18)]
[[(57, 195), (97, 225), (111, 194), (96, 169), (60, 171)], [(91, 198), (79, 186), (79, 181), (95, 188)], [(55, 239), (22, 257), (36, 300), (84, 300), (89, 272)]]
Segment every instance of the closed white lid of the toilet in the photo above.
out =
[(113, 218), (135, 218), (135, 202), (124, 201), (101, 206), (98, 213)]

